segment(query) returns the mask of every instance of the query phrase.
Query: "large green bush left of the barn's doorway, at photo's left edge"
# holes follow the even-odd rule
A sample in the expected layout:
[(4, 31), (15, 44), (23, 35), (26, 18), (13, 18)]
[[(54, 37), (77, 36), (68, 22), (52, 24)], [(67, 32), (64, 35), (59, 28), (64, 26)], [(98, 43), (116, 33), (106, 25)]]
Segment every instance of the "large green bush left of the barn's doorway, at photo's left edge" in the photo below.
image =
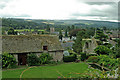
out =
[(2, 54), (2, 67), (3, 68), (15, 68), (16, 66), (16, 59), (13, 55), (4, 53)]

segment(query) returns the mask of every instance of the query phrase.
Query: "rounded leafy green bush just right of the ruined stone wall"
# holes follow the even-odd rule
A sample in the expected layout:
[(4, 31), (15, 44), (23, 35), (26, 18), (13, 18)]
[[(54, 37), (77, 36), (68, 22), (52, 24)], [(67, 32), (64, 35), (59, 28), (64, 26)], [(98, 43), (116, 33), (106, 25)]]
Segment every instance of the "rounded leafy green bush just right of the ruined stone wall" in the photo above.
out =
[(94, 49), (94, 51), (95, 51), (98, 55), (100, 55), (100, 54), (109, 55), (109, 54), (112, 52), (111, 49), (105, 47), (104, 45), (99, 45), (99, 46), (97, 46), (97, 47)]

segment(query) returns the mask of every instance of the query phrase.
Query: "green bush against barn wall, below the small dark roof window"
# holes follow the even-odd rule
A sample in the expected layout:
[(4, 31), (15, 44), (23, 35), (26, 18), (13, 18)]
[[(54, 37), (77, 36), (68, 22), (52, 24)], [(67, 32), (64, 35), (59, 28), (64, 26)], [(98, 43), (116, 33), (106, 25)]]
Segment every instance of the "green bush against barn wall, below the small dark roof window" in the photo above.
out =
[(50, 56), (48, 53), (42, 53), (39, 57), (39, 62), (40, 64), (48, 64), (52, 59), (52, 56)]

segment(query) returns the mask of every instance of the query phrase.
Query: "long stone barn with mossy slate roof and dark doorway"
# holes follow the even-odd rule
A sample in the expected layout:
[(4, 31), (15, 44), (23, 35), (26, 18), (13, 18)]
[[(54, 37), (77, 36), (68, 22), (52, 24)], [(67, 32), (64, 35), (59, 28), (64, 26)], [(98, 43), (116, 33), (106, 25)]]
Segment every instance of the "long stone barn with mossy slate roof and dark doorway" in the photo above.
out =
[(27, 64), (27, 55), (49, 53), (54, 61), (62, 61), (63, 48), (55, 35), (8, 35), (2, 36), (2, 53), (16, 58), (18, 65)]

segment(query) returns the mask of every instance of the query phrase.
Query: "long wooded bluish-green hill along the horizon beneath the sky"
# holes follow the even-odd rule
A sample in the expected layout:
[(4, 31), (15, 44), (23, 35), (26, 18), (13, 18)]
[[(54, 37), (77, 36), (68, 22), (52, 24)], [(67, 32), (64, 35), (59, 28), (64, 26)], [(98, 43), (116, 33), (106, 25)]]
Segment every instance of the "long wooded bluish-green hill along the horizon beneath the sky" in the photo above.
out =
[[(120, 24), (120, 23), (119, 23)], [(16, 19), (2, 18), (3, 27), (13, 27), (17, 29), (44, 29), (49, 27), (64, 28), (75, 25), (76, 27), (107, 27), (117, 28), (118, 22), (94, 21), (94, 20), (40, 20), (40, 19)]]

